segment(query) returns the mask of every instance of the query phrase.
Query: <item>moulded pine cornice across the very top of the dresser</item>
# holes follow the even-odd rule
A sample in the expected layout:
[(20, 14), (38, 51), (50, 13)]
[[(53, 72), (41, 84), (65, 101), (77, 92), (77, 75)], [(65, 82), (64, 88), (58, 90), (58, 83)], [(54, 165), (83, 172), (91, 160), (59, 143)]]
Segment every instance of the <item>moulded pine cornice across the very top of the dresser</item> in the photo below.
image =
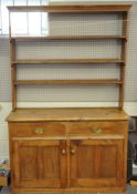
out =
[(10, 12), (55, 12), (55, 13), (87, 13), (87, 12), (125, 12), (131, 4), (65, 4), (65, 6), (9, 6)]

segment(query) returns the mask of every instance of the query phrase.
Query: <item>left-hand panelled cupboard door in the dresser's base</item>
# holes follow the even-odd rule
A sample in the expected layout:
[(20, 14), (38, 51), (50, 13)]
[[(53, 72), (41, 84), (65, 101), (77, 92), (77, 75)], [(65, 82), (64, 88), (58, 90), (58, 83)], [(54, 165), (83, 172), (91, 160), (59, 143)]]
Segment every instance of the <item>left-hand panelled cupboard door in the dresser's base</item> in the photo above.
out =
[(13, 141), (15, 187), (66, 187), (66, 142)]

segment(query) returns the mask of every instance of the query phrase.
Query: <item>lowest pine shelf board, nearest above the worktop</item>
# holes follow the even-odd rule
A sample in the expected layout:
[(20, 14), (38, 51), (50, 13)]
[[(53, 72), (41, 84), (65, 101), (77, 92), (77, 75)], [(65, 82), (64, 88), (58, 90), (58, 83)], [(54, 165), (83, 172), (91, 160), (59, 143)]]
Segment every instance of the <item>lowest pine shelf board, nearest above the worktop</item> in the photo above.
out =
[(104, 79), (104, 80), (18, 80), (14, 85), (49, 85), (49, 84), (123, 84), (122, 81), (116, 79)]

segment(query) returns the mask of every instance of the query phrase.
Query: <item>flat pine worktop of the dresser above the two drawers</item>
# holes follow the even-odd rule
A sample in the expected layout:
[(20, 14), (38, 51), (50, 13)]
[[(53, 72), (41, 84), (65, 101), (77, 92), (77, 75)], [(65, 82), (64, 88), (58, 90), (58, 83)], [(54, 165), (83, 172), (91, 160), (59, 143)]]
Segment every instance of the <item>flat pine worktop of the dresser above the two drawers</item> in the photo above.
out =
[(119, 121), (128, 115), (117, 108), (46, 108), (17, 109), (7, 118), (8, 122), (39, 121)]

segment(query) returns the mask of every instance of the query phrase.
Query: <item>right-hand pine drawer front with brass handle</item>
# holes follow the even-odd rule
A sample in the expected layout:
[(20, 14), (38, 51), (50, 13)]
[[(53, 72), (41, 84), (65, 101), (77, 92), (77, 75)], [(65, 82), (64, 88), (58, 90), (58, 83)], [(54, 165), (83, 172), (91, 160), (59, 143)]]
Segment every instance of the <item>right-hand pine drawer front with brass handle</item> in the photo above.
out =
[(70, 135), (124, 134), (127, 122), (71, 122)]

